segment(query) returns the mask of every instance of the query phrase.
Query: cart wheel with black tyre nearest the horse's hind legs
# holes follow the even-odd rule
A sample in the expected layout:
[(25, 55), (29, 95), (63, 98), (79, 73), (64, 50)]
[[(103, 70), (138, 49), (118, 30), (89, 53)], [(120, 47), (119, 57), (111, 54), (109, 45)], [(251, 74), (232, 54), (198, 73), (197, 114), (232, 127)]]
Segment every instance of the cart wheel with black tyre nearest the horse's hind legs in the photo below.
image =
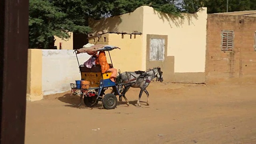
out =
[(114, 94), (106, 94), (103, 99), (103, 106), (107, 110), (116, 108), (117, 98)]

